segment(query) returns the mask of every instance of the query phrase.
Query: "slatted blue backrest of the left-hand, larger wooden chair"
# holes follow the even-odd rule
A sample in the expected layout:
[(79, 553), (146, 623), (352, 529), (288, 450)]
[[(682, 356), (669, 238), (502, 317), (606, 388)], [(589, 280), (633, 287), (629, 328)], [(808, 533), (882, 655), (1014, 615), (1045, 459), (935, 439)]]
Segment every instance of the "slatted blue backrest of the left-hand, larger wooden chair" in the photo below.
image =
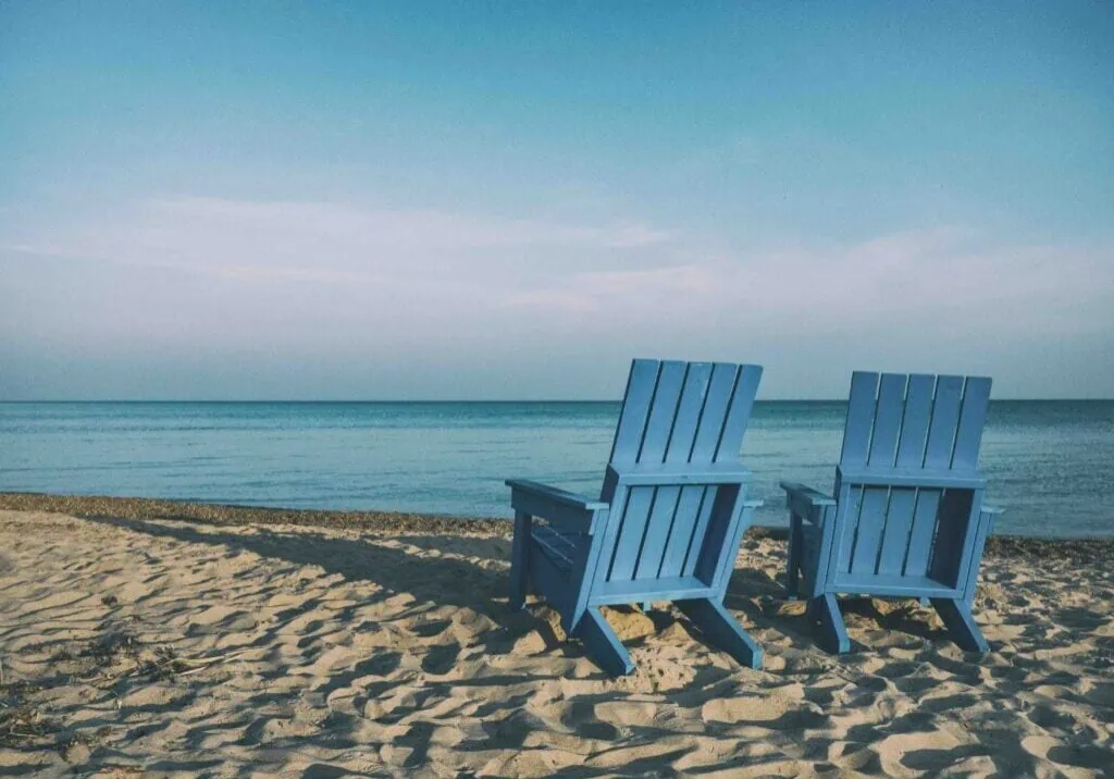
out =
[(604, 581), (694, 575), (710, 517), (729, 490), (647, 486), (617, 495), (616, 471), (649, 464), (700, 469), (737, 461), (761, 378), (759, 366), (633, 362), (600, 494), (613, 504), (600, 556)]

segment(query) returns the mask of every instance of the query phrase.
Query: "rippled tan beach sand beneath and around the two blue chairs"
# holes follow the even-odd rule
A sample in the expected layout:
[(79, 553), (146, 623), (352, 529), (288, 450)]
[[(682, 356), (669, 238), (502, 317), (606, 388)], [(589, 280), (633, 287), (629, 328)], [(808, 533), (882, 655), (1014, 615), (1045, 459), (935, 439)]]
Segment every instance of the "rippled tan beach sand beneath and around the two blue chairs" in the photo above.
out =
[(638, 666), (613, 680), (543, 603), (508, 611), (505, 523), (0, 506), (0, 775), (1114, 771), (1111, 543), (994, 539), (988, 655), (876, 600), (833, 658), (783, 598), (784, 542), (752, 532), (726, 605), (764, 670), (663, 605), (605, 610)]

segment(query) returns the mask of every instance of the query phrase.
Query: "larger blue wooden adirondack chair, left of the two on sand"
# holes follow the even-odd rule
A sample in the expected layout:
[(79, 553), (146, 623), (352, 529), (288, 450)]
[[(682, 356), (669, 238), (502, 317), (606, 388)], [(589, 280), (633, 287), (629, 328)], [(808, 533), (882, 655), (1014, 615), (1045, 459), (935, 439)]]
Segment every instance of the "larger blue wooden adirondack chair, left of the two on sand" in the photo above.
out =
[[(599, 499), (510, 479), (510, 605), (541, 593), (612, 675), (634, 670), (599, 607), (672, 601), (740, 663), (762, 651), (723, 607), (759, 500), (739, 461), (762, 369), (635, 360)], [(546, 522), (537, 523), (535, 518)]]

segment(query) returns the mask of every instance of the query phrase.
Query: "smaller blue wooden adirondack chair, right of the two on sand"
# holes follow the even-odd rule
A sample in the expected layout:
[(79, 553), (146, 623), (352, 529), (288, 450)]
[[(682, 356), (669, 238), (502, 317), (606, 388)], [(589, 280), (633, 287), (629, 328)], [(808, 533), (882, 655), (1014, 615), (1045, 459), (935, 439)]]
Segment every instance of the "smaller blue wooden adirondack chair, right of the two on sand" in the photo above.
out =
[(832, 653), (850, 641), (838, 594), (931, 602), (952, 640), (988, 645), (971, 617), (994, 516), (978, 448), (990, 379), (856, 372), (834, 498), (782, 481), (790, 509), (786, 586), (800, 580)]

